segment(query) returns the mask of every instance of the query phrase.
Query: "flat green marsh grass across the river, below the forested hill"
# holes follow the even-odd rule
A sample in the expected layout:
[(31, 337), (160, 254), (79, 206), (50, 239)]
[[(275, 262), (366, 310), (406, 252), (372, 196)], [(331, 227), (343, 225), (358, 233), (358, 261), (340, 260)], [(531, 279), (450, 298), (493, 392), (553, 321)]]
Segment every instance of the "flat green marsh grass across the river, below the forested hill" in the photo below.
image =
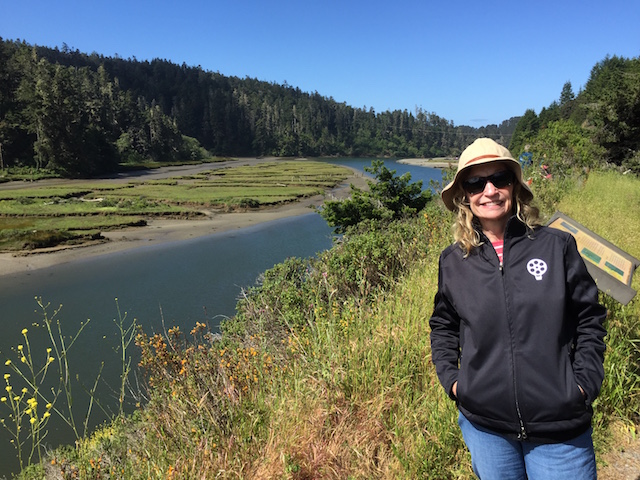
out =
[[(85, 233), (142, 225), (144, 218), (190, 218), (295, 202), (322, 194), (350, 171), (323, 162), (270, 162), (129, 184), (104, 180), (0, 190), (0, 250), (81, 242)], [(34, 241), (29, 241), (31, 232)], [(48, 233), (43, 233), (46, 230)], [(94, 232), (95, 233), (95, 232)], [(35, 248), (35, 247), (32, 247)]]

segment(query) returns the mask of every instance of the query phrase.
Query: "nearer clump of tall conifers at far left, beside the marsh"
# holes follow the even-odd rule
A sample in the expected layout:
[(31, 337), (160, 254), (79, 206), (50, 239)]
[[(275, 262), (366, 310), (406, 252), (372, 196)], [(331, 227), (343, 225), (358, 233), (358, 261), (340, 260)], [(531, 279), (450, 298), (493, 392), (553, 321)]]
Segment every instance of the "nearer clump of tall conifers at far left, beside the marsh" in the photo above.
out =
[(104, 67), (53, 63), (26, 44), (0, 42), (2, 168), (92, 176), (122, 162), (203, 153), (155, 102), (120, 88)]

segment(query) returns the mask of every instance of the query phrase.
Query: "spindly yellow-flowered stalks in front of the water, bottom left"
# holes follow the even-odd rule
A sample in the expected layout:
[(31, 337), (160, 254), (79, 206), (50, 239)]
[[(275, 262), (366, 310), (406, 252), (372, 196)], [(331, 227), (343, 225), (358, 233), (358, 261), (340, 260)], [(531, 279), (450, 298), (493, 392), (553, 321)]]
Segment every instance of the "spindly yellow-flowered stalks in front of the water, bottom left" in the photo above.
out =
[[(122, 375), (120, 385), (114, 390), (119, 395), (118, 410), (112, 413), (96, 395), (102, 381), (104, 361), (96, 372), (93, 385), (85, 386), (74, 373), (77, 363), (70, 360), (70, 352), (90, 320), (82, 322), (75, 333), (69, 334), (60, 319), (61, 306), (52, 311), (42, 299), (36, 298), (36, 302), (42, 313), (42, 324), (34, 323), (32, 331), (24, 328), (22, 342), (11, 351), (2, 352), (6, 357), (6, 393), (0, 398), (0, 424), (9, 433), (18, 464), (26, 472), (25, 478), (30, 478), (28, 472), (33, 471), (30, 464), (42, 461), (48, 450), (46, 442), (51, 420), (56, 421), (54, 428), (66, 428), (73, 438), (80, 440), (89, 434), (94, 409), (101, 410), (105, 418), (113, 419), (124, 414), (125, 393), (130, 391), (131, 351), (127, 347), (137, 327), (135, 319), (127, 320), (126, 313), (124, 316), (121, 314), (116, 299), (118, 319), (114, 323), (121, 342), (115, 350), (122, 364)], [(44, 345), (38, 336), (45, 337)], [(79, 398), (78, 387), (88, 395), (85, 402), (80, 402), (85, 399)]]

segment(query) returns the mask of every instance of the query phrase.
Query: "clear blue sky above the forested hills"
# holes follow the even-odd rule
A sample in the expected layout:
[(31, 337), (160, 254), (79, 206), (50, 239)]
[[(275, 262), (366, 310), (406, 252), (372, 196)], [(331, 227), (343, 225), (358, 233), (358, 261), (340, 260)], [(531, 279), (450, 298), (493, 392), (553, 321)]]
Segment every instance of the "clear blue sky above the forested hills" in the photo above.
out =
[(0, 0), (0, 36), (285, 81), (455, 125), (539, 112), (606, 55), (640, 56), (637, 0)]

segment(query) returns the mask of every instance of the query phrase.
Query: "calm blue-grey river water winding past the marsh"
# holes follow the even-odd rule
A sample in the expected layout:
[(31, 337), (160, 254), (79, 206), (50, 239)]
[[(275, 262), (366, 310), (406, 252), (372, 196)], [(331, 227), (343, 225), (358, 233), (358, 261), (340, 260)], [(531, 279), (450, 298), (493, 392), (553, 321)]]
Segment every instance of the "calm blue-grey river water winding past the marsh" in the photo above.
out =
[[(330, 163), (363, 170), (370, 159), (331, 159)], [(440, 180), (440, 170), (411, 167), (394, 161), (385, 165), (398, 174), (411, 172), (412, 181)], [(64, 334), (77, 331), (81, 322), (88, 327), (74, 344), (70, 358), (74, 374), (91, 386), (105, 361), (103, 379), (116, 386), (117, 355), (113, 348), (118, 337), (114, 319), (118, 309), (128, 318), (136, 318), (147, 333), (180, 326), (188, 332), (196, 321), (216, 327), (220, 318), (232, 316), (242, 288), (255, 285), (265, 270), (288, 257), (310, 257), (330, 248), (332, 230), (316, 214), (291, 217), (250, 228), (214, 234), (181, 242), (143, 247), (132, 251), (83, 259), (64, 265), (11, 276), (0, 276), (0, 358), (17, 360), (14, 350), (24, 344), (20, 333), (29, 330), (29, 342), (35, 356), (44, 357), (45, 331), (42, 312), (34, 297), (50, 303), (49, 312), (62, 305), (58, 318)], [(4, 372), (9, 372), (5, 367)], [(13, 374), (11, 381), (15, 382)], [(16, 383), (14, 383), (17, 386)], [(15, 388), (14, 386), (14, 388)], [(85, 395), (75, 386), (78, 412), (86, 411)], [(108, 389), (102, 389), (107, 401)], [(4, 392), (3, 392), (4, 393)], [(0, 405), (0, 418), (7, 418), (6, 405)], [(52, 417), (53, 418), (53, 417)], [(103, 418), (96, 416), (95, 422)], [(69, 443), (66, 428), (50, 423), (48, 442)], [(15, 471), (15, 451), (8, 433), (0, 430), (0, 475)]]

